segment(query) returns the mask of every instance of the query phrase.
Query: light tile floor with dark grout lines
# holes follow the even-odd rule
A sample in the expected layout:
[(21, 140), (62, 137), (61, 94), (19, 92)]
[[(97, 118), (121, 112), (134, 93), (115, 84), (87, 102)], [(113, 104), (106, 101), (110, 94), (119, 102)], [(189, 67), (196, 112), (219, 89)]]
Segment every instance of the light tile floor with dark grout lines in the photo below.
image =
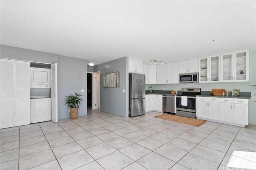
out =
[[(256, 169), (256, 126), (194, 127), (150, 112), (123, 118), (98, 110), (1, 129), (1, 170)], [(229, 168), (231, 169), (231, 168)]]

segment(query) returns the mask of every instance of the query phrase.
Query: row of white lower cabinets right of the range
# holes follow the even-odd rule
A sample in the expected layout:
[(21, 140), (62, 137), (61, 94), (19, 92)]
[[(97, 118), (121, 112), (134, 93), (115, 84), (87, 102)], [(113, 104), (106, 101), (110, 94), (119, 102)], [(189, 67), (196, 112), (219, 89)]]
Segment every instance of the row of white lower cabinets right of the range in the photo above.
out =
[(243, 127), (248, 125), (248, 99), (197, 97), (197, 103), (198, 119)]

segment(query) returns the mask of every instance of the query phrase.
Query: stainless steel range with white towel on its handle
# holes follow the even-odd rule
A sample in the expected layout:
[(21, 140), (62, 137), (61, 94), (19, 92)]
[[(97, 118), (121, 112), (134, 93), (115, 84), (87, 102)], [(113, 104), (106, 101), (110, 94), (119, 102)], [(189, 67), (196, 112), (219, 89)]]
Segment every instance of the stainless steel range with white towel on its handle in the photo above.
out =
[(182, 88), (176, 98), (176, 115), (196, 118), (196, 95), (201, 95), (201, 88)]

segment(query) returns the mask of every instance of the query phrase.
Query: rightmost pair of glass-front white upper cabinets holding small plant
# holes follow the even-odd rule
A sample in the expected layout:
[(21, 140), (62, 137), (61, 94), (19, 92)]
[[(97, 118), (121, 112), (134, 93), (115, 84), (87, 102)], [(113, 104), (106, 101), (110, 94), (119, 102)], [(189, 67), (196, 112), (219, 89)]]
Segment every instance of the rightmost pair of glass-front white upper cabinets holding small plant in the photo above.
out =
[(221, 82), (249, 81), (249, 50), (221, 55)]

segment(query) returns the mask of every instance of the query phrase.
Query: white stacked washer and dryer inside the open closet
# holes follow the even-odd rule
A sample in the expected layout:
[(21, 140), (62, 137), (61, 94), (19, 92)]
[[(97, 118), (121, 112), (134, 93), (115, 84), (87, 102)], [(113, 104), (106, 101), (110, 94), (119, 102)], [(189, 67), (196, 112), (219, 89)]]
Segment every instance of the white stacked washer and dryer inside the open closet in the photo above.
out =
[(30, 67), (30, 123), (51, 120), (51, 69)]

